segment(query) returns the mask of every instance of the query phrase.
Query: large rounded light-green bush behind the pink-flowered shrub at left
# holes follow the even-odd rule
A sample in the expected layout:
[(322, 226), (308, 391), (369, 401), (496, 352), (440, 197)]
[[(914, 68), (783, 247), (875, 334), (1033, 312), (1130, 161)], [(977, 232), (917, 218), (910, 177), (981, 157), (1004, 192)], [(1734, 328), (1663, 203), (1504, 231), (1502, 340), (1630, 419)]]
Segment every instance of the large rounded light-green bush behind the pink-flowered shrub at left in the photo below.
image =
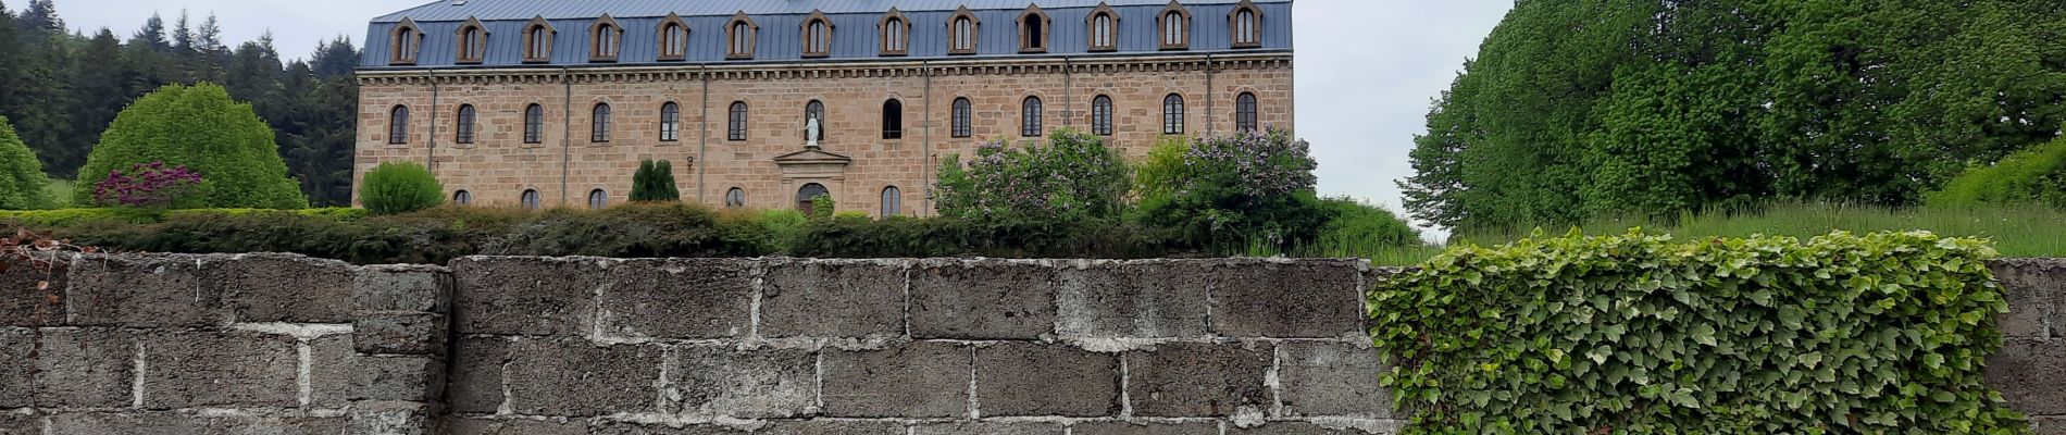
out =
[[(217, 85), (169, 85), (116, 115), (93, 146), (81, 179), (138, 163), (180, 165), (202, 175), (192, 202), (180, 206), (306, 208), (308, 198), (279, 159), (279, 144), (252, 107), (229, 99)], [(89, 202), (91, 192), (76, 192)]]

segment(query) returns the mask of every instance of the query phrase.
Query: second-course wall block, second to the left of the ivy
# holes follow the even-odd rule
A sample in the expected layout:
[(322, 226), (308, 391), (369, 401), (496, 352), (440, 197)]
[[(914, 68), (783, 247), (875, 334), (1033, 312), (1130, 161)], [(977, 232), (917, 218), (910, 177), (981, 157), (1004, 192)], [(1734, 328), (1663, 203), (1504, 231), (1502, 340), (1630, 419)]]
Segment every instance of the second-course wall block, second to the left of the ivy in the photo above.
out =
[[(1126, 394), (1136, 416), (1233, 416), (1269, 412), (1269, 344), (1171, 342), (1126, 353)], [(1246, 410), (1244, 410), (1246, 408)]]

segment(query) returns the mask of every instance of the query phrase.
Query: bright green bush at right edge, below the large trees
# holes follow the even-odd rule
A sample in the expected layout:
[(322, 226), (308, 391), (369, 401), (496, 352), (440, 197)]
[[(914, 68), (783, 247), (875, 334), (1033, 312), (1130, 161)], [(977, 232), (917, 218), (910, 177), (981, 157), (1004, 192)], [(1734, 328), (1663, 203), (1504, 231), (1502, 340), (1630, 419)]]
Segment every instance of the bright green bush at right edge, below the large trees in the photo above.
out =
[(2049, 204), (2066, 208), (2066, 138), (1967, 169), (1930, 196), (1930, 206)]

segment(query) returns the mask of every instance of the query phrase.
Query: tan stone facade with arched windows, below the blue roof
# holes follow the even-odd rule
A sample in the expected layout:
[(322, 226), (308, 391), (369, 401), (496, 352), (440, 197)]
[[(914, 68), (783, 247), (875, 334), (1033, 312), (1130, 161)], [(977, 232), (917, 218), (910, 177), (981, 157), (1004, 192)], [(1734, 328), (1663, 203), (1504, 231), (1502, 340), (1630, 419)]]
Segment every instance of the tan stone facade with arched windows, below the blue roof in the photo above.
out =
[[(1023, 138), (1023, 101), (1039, 97), (1043, 130), (1091, 128), (1091, 103), (1114, 101), (1107, 146), (1145, 157), (1163, 134), (1163, 99), (1184, 97), (1184, 134), (1235, 130), (1235, 99), (1256, 97), (1256, 126), (1291, 128), (1291, 54), (1147, 54), (1101, 58), (810, 62), (620, 68), (490, 68), (359, 72), (355, 179), (386, 161), (430, 163), (446, 194), (514, 206), (535, 190), (543, 206), (609, 204), (630, 196), (643, 159), (674, 161), (682, 198), (725, 206), (738, 188), (750, 208), (791, 208), (820, 183), (841, 210), (932, 214), (928, 190), (950, 155)], [(884, 138), (884, 101), (903, 103), (903, 138)], [(952, 136), (952, 103), (969, 99), (969, 138)], [(680, 136), (661, 140), (663, 103), (678, 103)], [(727, 138), (733, 101), (748, 105), (746, 140)], [(804, 109), (824, 105), (820, 150), (806, 150)], [(525, 142), (525, 109), (545, 109), (543, 140)], [(607, 142), (591, 140), (597, 103), (612, 107)], [(475, 142), (457, 144), (457, 111), (473, 105)], [(390, 113), (409, 107), (407, 140), (390, 144)], [(353, 183), (357, 186), (357, 183)]]

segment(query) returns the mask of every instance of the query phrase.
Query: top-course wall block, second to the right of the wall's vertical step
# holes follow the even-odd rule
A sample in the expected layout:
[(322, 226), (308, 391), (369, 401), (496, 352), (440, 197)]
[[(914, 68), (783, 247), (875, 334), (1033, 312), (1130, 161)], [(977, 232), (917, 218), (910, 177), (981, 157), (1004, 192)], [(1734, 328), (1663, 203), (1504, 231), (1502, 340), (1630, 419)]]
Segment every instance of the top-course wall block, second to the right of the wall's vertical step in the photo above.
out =
[(752, 332), (754, 276), (746, 260), (626, 260), (597, 301), (603, 334), (731, 338)]

